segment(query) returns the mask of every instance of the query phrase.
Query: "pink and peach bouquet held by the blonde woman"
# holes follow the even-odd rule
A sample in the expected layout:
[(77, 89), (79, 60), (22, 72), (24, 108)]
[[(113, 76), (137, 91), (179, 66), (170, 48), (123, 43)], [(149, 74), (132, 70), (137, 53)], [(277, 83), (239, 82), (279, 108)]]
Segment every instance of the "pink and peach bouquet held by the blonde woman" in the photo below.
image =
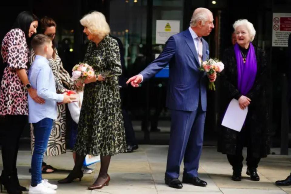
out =
[[(94, 69), (86, 64), (86, 63), (80, 63), (80, 64), (76, 64), (73, 69), (72, 69), (73, 73), (73, 81), (75, 81), (77, 87), (84, 84), (85, 79), (87, 77), (92, 77), (95, 75), (95, 71)], [(82, 88), (77, 88), (78, 90), (82, 90)]]

